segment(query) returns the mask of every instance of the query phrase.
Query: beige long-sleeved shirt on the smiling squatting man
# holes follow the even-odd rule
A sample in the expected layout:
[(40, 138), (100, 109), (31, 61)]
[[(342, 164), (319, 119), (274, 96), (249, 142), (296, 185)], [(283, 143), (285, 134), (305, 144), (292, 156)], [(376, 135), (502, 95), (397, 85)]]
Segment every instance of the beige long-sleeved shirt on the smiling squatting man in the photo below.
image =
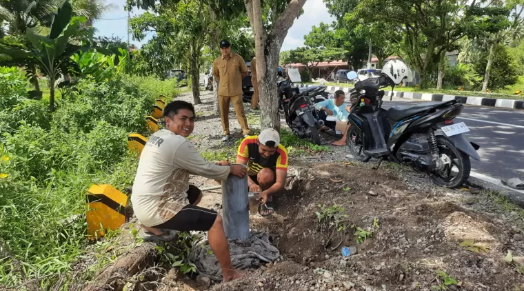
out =
[(189, 204), (189, 175), (225, 180), (229, 166), (205, 161), (192, 143), (170, 130), (155, 132), (142, 150), (131, 201), (143, 225), (168, 221)]

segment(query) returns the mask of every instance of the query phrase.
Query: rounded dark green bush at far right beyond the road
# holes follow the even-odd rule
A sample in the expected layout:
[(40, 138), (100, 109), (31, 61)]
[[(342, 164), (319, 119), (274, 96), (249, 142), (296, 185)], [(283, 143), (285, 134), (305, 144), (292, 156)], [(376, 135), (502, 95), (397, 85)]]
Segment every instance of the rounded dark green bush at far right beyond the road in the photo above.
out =
[[(474, 70), (480, 76), (484, 76), (488, 54), (489, 52), (482, 54), (480, 59), (474, 64)], [(504, 88), (505, 86), (516, 83), (518, 80), (518, 72), (518, 63), (512, 58), (512, 55), (507, 53), (504, 46), (496, 46), (490, 72), (490, 82), (487, 88)]]

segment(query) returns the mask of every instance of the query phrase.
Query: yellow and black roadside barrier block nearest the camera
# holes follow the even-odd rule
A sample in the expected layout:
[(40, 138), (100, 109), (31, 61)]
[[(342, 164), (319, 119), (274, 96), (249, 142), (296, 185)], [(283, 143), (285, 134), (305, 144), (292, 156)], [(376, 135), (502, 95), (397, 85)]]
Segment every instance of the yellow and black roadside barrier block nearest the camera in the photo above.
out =
[(91, 185), (86, 197), (89, 239), (103, 237), (108, 230), (117, 230), (125, 223), (128, 197), (112, 185)]

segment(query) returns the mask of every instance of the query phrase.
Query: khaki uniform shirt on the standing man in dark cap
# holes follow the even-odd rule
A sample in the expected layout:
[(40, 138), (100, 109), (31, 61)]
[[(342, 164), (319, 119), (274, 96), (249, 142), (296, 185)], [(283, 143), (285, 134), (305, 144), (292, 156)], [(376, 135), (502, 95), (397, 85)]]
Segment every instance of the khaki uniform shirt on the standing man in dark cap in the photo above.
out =
[(219, 77), (219, 95), (242, 95), (242, 73), (248, 72), (244, 60), (238, 54), (231, 53), (229, 59), (220, 56), (213, 62), (213, 75)]

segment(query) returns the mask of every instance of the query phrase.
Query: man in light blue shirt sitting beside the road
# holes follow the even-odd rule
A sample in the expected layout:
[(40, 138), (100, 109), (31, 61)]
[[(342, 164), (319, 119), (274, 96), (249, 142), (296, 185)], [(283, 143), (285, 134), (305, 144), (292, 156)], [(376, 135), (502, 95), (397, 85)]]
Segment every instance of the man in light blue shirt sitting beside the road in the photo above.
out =
[[(351, 106), (344, 104), (345, 94), (342, 90), (335, 91), (334, 99), (327, 99), (315, 104), (315, 109), (319, 110), (319, 118), (324, 121), (323, 130), (340, 130), (342, 132), (342, 139), (331, 143), (336, 146), (346, 145), (347, 130), (350, 125), (347, 124), (347, 117), (350, 114)], [(328, 119), (328, 116), (333, 118)]]

